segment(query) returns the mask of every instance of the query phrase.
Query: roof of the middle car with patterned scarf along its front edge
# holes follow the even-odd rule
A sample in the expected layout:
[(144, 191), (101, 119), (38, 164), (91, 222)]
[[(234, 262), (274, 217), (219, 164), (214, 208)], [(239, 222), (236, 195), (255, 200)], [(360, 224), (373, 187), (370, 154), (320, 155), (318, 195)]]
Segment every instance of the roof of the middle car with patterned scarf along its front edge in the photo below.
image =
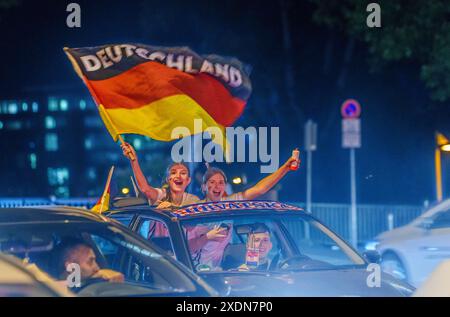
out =
[(248, 211), (249, 213), (288, 212), (298, 214), (306, 213), (304, 209), (271, 200), (240, 200), (240, 201), (220, 201), (204, 202), (183, 206), (178, 209), (157, 209), (155, 206), (133, 206), (118, 208), (109, 213), (110, 216), (117, 216), (126, 213), (158, 213), (169, 218), (193, 219), (205, 215), (225, 215), (236, 211)]

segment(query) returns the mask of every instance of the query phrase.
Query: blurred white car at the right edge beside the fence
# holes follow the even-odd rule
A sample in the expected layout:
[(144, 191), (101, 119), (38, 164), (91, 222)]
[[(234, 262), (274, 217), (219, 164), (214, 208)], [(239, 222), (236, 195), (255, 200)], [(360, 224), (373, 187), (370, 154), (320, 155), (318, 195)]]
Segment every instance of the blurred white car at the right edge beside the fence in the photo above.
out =
[(366, 249), (379, 251), (383, 271), (419, 287), (439, 263), (450, 259), (450, 199), (381, 233)]

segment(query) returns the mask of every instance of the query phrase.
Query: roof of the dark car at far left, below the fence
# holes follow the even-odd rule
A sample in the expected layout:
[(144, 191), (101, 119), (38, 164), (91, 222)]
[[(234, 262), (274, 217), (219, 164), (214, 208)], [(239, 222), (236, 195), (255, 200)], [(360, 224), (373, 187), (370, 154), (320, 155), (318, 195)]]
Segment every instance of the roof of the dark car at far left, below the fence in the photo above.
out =
[(60, 221), (104, 222), (108, 218), (87, 209), (68, 206), (0, 208), (0, 225)]

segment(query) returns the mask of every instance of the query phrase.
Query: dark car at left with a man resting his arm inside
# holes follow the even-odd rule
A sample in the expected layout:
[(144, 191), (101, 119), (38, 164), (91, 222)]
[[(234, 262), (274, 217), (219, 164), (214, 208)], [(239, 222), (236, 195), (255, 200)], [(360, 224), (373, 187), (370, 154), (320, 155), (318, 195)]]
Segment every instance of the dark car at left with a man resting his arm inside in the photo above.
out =
[(125, 277), (123, 283), (89, 279), (71, 289), (80, 296), (217, 295), (183, 265), (106, 217), (71, 207), (0, 209), (0, 252), (35, 264), (55, 280), (60, 279), (64, 267), (57, 263), (57, 246), (67, 239), (83, 241), (92, 248), (100, 268)]

